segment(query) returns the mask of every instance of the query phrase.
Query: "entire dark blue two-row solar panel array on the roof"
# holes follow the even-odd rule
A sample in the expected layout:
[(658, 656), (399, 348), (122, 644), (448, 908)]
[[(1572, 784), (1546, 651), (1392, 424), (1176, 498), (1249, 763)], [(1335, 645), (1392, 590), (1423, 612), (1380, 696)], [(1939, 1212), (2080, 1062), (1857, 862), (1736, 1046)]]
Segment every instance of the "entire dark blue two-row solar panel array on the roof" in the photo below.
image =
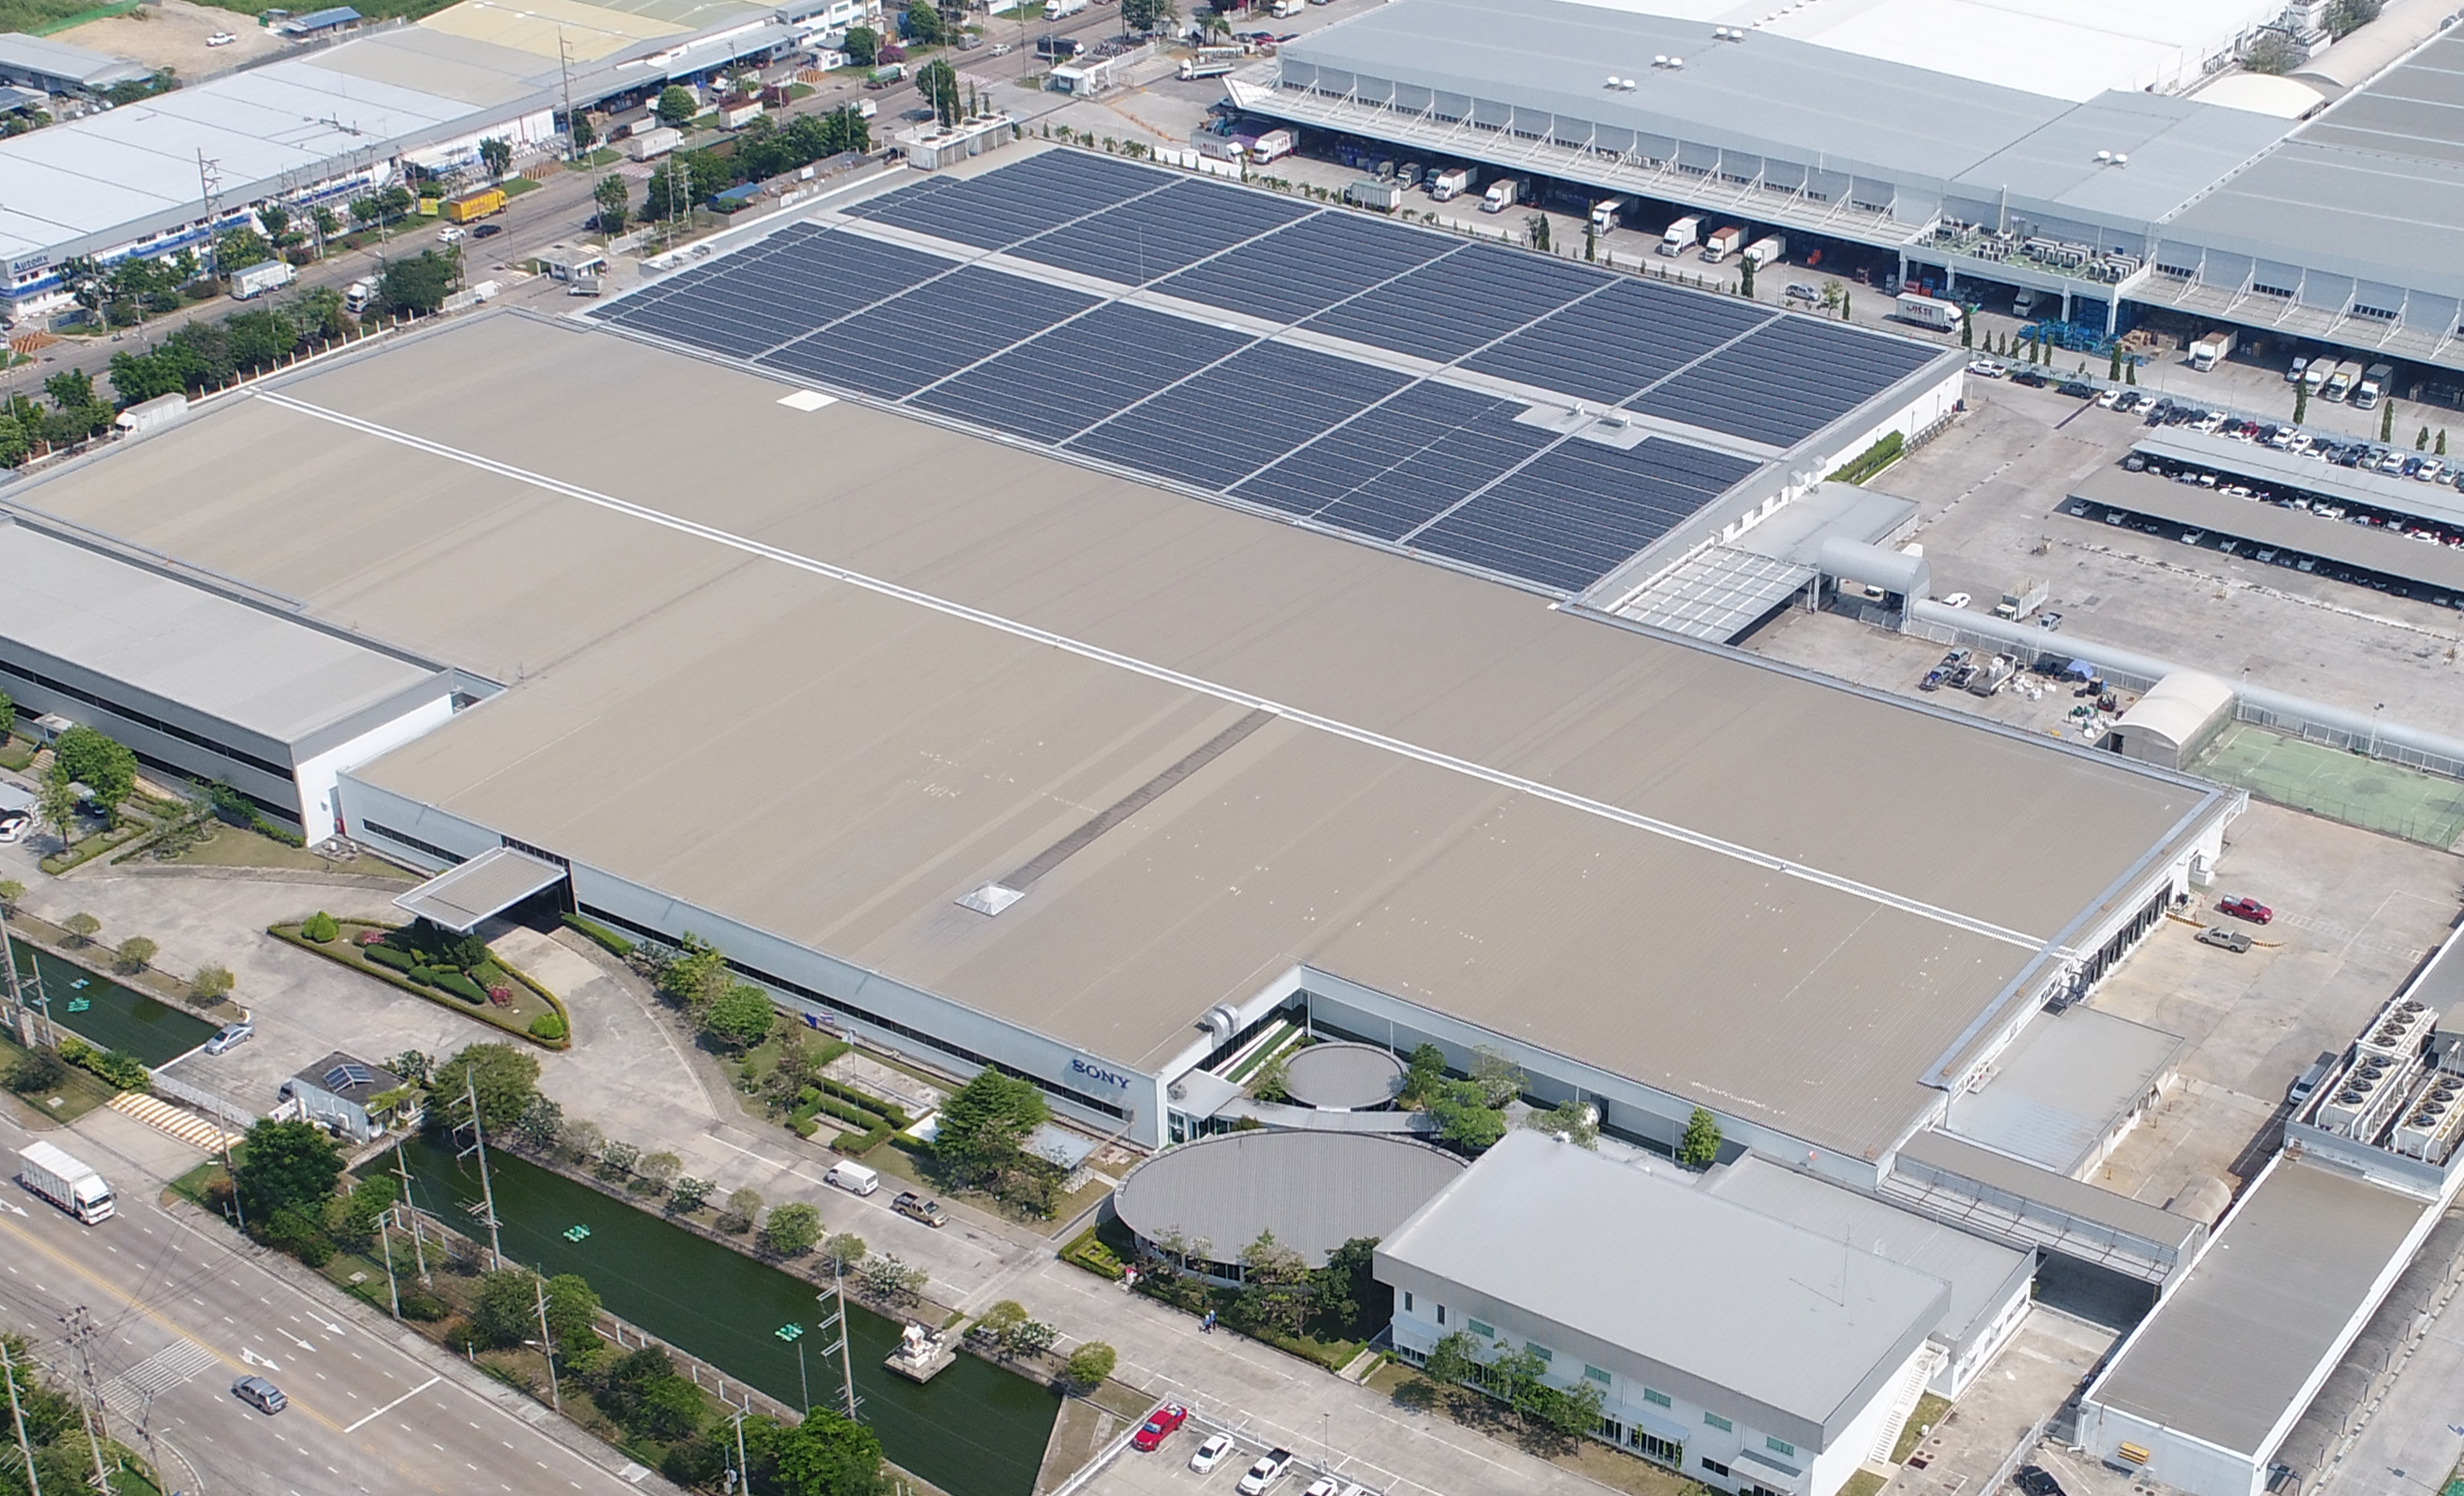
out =
[[(870, 227), (791, 224), (591, 315), (1565, 591), (1934, 357), (1077, 150), (845, 212)], [(1567, 434), (1574, 402), (1762, 453)], [(1518, 419), (1533, 404), (1557, 419)]]

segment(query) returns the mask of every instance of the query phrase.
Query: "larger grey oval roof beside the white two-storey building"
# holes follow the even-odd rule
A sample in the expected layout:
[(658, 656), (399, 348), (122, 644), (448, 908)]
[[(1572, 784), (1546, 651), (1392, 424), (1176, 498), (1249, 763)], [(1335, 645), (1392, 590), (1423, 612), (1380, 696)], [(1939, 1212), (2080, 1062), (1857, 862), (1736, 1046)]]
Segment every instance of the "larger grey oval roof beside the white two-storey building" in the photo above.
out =
[(1129, 1171), (1111, 1198), (1151, 1242), (1239, 1262), (1271, 1230), (1311, 1267), (1355, 1237), (1385, 1237), (1456, 1176), (1454, 1153), (1404, 1139), (1343, 1131), (1234, 1131), (1168, 1148)]

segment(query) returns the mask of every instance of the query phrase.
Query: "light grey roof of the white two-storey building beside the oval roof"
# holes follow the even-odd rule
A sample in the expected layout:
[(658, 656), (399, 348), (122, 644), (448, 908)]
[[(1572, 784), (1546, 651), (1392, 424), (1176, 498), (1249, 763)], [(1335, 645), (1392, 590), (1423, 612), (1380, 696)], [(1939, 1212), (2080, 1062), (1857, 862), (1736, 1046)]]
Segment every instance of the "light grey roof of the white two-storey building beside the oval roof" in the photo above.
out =
[(1951, 1301), (1937, 1277), (1700, 1190), (1673, 1163), (1616, 1163), (1538, 1131), (1506, 1134), (1377, 1259), (1380, 1277), (1400, 1264), (1459, 1284), (1473, 1296), (1449, 1301), (1459, 1314), (1496, 1304), (1552, 1351), (1666, 1368), (1631, 1375), (1720, 1412), (1757, 1402), (1823, 1442)]

